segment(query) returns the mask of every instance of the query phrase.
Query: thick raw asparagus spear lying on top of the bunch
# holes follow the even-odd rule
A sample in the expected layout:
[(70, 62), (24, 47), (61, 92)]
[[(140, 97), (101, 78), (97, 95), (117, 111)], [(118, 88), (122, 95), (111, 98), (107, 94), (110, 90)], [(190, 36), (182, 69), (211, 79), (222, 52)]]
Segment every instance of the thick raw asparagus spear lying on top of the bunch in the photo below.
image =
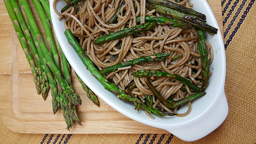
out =
[[(49, 66), (49, 68), (52, 69), (52, 72), (54, 73), (57, 83), (58, 85), (63, 89), (64, 94), (67, 98), (70, 99), (70, 101), (75, 104), (75, 105), (81, 105), (82, 104), (82, 100), (80, 99), (80, 96), (76, 93), (74, 93), (74, 89), (72, 87), (70, 87), (65, 81), (63, 76), (61, 76), (61, 70), (59, 69), (59, 67), (56, 65), (56, 63), (54, 62), (54, 60), (52, 59), (52, 54), (51, 52), (48, 50), (44, 39), (42, 38), (42, 35), (39, 31), (39, 28), (36, 25), (36, 21), (32, 15), (31, 9), (28, 5), (28, 2), (26, 0), (20, 0), (20, 4), (21, 7), (24, 8), (25, 14), (27, 16), (28, 22), (31, 25), (31, 29), (34, 31), (35, 35), (36, 35), (36, 41), (38, 41), (38, 44), (40, 46), (40, 49), (42, 50), (42, 52), (44, 53), (44, 57), (46, 60), (47, 65)], [(30, 30), (31, 30), (30, 29)]]

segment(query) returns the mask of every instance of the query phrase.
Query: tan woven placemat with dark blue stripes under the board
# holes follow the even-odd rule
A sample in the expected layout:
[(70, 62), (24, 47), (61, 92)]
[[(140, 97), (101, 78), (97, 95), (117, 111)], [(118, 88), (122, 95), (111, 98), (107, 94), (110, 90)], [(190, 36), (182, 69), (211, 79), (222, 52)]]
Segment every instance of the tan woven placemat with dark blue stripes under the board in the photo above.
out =
[(0, 118), (2, 144), (254, 144), (256, 140), (256, 4), (223, 0), (222, 19), (227, 60), (227, 119), (206, 137), (185, 142), (172, 134), (25, 134), (10, 131)]

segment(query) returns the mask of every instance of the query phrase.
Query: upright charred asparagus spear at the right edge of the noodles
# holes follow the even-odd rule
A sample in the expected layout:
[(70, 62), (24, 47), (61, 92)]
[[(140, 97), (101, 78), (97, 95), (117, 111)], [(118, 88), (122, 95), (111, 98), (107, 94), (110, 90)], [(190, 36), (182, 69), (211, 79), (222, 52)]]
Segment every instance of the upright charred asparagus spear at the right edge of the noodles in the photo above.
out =
[(201, 53), (201, 58), (202, 58), (202, 90), (204, 91), (205, 88), (207, 87), (209, 83), (209, 73), (210, 73), (210, 65), (209, 65), (209, 59), (207, 58), (207, 48), (205, 45), (205, 39), (204, 39), (204, 31), (202, 29), (198, 29), (198, 49)]

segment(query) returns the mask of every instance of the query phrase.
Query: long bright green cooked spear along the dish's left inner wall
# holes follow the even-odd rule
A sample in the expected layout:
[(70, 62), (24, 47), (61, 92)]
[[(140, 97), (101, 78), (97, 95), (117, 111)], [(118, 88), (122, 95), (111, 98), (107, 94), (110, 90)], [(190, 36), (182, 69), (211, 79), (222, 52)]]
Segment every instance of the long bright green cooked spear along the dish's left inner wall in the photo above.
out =
[(114, 92), (122, 100), (129, 100), (129, 101), (137, 102), (138, 105), (136, 107), (138, 109), (141, 104), (144, 105), (144, 103), (140, 99), (134, 97), (133, 95), (127, 94), (123, 90), (119, 90), (115, 84), (109, 83), (109, 81), (104, 76), (102, 76), (100, 74), (100, 72), (93, 66), (92, 60), (90, 60), (89, 57), (84, 53), (83, 49), (81, 48), (80, 44), (77, 42), (77, 40), (74, 37), (74, 35), (72, 34), (72, 32), (69, 29), (67, 29), (67, 30), (65, 30), (64, 33), (65, 33), (66, 37), (68, 38), (68, 43), (74, 47), (74, 49), (78, 53), (79, 57), (83, 61), (84, 65), (92, 73), (92, 76), (94, 76), (96, 79), (98, 79), (100, 81), (100, 83), (104, 85), (105, 89), (107, 89), (108, 91)]

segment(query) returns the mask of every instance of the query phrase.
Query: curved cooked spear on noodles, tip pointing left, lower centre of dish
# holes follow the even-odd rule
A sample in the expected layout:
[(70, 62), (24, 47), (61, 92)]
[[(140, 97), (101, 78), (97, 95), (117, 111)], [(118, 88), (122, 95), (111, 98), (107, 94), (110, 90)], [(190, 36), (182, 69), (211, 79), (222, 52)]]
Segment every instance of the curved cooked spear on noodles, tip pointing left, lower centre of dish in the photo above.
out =
[(188, 87), (195, 90), (195, 92), (200, 92), (200, 88), (198, 86), (196, 86), (195, 84), (191, 83), (188, 79), (186, 79), (186, 78), (184, 78), (180, 75), (177, 75), (177, 74), (173, 74), (173, 75), (169, 74), (165, 70), (150, 70), (150, 69), (148, 69), (148, 70), (138, 70), (138, 71), (132, 73), (132, 76), (136, 76), (136, 77), (168, 76), (168, 77), (175, 78), (176, 80), (179, 80), (182, 84), (187, 84)]

